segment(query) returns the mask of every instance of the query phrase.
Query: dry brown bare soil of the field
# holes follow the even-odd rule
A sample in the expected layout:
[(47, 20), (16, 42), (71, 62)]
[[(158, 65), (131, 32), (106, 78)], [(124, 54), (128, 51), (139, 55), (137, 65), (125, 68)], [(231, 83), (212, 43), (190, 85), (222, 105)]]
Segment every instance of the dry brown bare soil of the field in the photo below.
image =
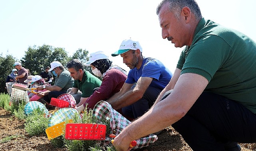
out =
[[(3, 138), (17, 136), (10, 141), (2, 142)], [(256, 143), (242, 144), (242, 151), (256, 151)], [(24, 121), (19, 120), (10, 112), (0, 108), (0, 151), (67, 151), (56, 148), (48, 140), (46, 134), (29, 136), (24, 129)], [(171, 126), (163, 130), (157, 141), (141, 151), (192, 151), (181, 135)]]

